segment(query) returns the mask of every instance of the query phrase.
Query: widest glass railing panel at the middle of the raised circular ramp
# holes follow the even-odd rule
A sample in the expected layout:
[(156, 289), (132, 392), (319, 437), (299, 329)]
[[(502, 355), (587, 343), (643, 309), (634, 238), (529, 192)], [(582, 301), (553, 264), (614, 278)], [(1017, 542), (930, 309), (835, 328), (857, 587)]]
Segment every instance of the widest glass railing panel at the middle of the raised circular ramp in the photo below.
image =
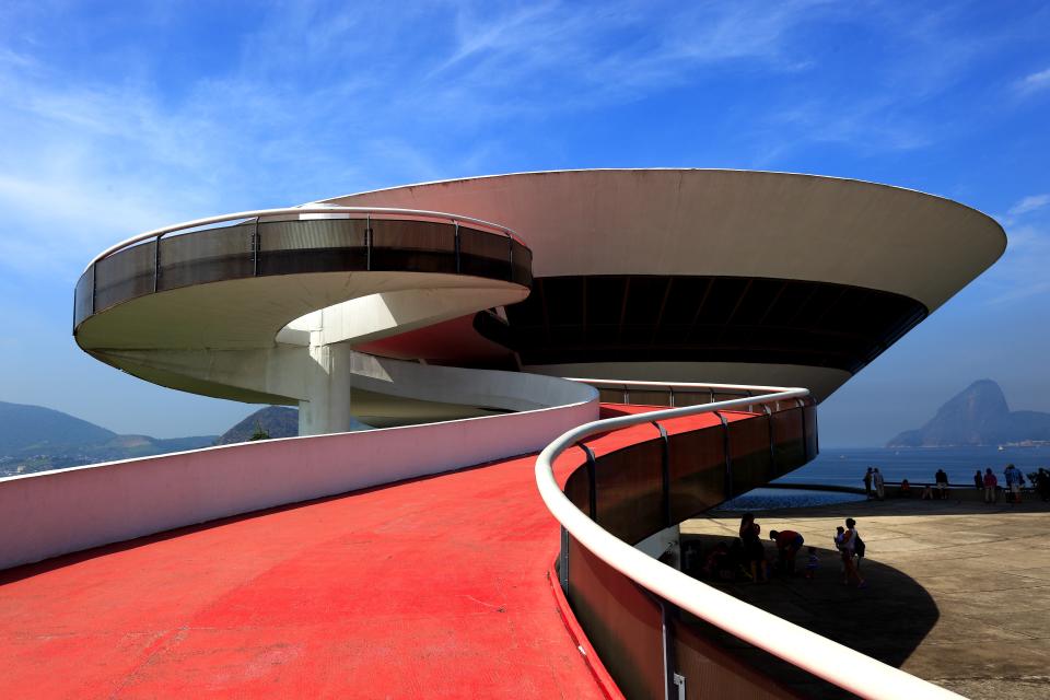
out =
[(364, 270), (366, 229), (363, 219), (262, 221), (259, 275)]

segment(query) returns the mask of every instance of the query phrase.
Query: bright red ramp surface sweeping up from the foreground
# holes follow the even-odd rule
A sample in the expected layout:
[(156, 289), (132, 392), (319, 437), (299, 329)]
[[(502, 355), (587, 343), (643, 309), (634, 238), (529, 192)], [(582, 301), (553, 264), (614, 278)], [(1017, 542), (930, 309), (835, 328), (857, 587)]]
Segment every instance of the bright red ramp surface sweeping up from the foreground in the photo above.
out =
[(603, 697), (546, 578), (534, 463), (0, 572), (0, 698)]

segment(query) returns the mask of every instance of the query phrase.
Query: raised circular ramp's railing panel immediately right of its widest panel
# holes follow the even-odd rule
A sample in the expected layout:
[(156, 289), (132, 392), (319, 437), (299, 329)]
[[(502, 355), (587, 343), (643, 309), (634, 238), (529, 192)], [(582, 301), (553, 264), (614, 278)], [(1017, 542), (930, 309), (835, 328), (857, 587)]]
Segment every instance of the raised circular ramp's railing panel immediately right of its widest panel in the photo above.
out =
[(456, 229), (452, 223), (372, 220), (373, 270), (456, 271)]

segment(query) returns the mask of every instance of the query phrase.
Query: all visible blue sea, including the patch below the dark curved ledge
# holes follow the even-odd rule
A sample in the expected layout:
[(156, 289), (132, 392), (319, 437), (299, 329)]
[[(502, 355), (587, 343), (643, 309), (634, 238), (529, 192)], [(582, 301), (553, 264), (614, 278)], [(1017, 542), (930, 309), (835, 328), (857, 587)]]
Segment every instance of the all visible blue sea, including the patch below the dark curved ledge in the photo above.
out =
[[(1006, 447), (824, 447), (816, 459), (775, 480), (774, 483), (844, 486), (864, 488), (864, 472), (878, 467), (887, 481), (908, 479), (913, 487), (934, 483), (937, 469), (944, 469), (949, 483), (971, 486), (973, 472), (991, 467), (1003, 482), (1003, 469), (1013, 464), (1025, 474), (1039, 467), (1050, 469), (1050, 446)], [(863, 495), (805, 489), (755, 489), (718, 510), (760, 511), (775, 508), (825, 505), (864, 500)]]

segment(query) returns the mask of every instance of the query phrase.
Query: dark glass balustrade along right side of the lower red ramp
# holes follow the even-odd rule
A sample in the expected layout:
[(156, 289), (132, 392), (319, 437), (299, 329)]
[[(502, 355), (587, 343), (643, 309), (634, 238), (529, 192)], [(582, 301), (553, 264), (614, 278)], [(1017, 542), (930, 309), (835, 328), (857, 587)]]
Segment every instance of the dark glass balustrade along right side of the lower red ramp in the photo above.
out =
[[(623, 400), (623, 390), (600, 389)], [(669, 390), (631, 390), (630, 398), (667, 404)], [(708, 393), (675, 393), (705, 402)], [(616, 398), (618, 397), (618, 398)], [(699, 401), (700, 398), (704, 401)], [(663, 400), (660, 400), (663, 398)], [(740, 398), (714, 393), (715, 400)], [(641, 402), (641, 401), (639, 401)], [(565, 482), (565, 495), (603, 528), (629, 544), (768, 483), (817, 455), (812, 398), (760, 405), (744, 419), (723, 413), (721, 425), (656, 436), (587, 463)], [(574, 447), (572, 450), (580, 450)], [(585, 451), (580, 451), (581, 455)], [(796, 698), (760, 668), (751, 668), (708, 639), (709, 626), (635, 584), (563, 537), (559, 574), (565, 596), (602, 663), (628, 698)]]

